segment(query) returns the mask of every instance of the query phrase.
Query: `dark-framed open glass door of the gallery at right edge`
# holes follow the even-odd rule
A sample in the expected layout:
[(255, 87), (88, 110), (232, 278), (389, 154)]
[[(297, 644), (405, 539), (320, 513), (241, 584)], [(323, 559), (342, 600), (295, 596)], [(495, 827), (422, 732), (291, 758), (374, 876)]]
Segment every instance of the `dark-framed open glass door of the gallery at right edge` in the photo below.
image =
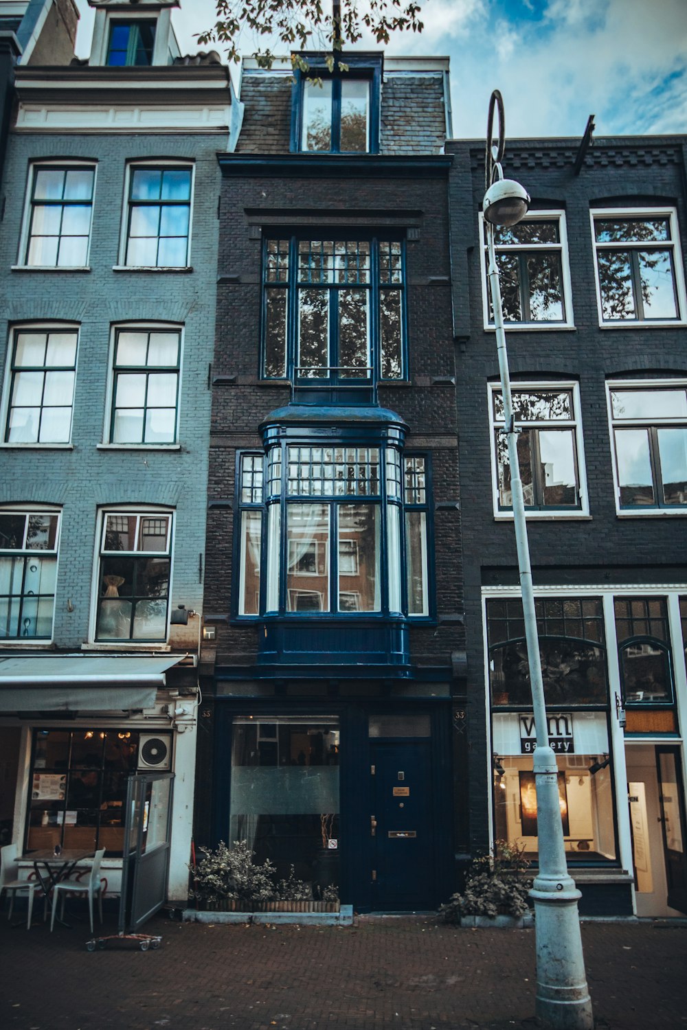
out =
[(687, 913), (687, 857), (685, 856), (685, 798), (677, 748), (656, 748), (660, 821), (663, 828), (667, 903)]

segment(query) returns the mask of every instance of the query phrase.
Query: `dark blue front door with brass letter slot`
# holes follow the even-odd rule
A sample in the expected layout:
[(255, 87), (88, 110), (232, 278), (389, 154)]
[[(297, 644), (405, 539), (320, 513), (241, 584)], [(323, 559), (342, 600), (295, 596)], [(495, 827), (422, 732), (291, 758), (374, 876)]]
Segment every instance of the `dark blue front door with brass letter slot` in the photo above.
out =
[(430, 741), (371, 742), (371, 762), (374, 908), (431, 908), (436, 899)]

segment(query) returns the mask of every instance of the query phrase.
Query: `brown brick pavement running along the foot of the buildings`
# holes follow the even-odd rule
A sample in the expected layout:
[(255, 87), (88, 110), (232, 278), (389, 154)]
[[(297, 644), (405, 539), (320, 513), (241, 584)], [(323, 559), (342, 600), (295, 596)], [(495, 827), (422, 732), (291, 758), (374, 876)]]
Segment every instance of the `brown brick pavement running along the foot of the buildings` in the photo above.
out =
[[(0, 919), (3, 1030), (531, 1030), (534, 930), (432, 917), (352, 927), (203, 926), (162, 917), (163, 941), (89, 954), (88, 923)], [(102, 933), (113, 932), (110, 925)], [(582, 926), (597, 1030), (687, 1030), (687, 926)]]

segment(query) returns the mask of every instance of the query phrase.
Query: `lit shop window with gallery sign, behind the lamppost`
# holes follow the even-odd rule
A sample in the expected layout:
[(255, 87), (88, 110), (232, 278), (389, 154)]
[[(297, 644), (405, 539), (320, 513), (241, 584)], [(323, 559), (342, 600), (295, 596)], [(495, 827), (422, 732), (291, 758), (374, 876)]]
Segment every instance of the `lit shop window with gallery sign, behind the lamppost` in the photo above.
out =
[[(549, 718), (556, 752), (558, 795), (569, 862), (617, 857), (613, 777), (606, 713), (573, 712)], [(530, 714), (493, 716), (493, 808), (497, 839), (524, 842), (538, 858), (537, 792)]]

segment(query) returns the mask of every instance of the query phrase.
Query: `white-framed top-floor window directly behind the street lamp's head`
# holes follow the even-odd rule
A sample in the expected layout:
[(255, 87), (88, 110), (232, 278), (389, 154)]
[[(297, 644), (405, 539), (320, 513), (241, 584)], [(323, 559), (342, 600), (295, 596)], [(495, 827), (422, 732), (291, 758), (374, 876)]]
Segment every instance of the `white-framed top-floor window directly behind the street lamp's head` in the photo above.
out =
[[(483, 224), (486, 233), (486, 227)], [(494, 228), (504, 320), (513, 324), (572, 324), (565, 217), (546, 211), (517, 226)], [(484, 273), (488, 268), (486, 240)], [(485, 279), (486, 281), (486, 279)], [(488, 284), (485, 324), (493, 325)]]

